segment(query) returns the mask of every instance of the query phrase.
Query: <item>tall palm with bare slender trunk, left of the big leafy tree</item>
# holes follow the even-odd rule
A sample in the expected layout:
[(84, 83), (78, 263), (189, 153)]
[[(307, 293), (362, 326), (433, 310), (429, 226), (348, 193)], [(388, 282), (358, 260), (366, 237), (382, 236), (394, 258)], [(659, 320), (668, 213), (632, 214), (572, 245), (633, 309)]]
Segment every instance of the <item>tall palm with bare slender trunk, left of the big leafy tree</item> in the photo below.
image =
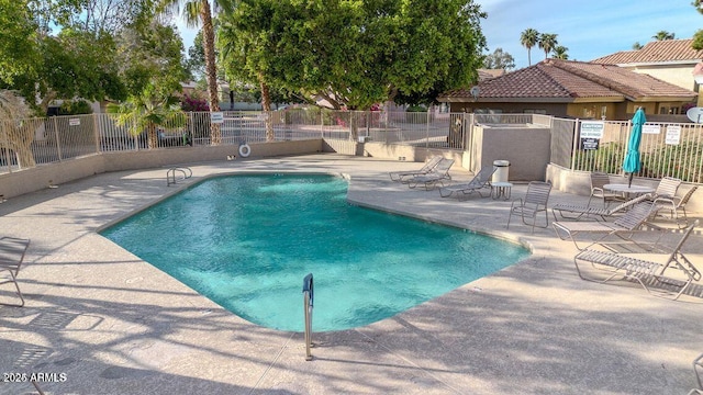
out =
[[(235, 0), (213, 0), (224, 10), (232, 10)], [(205, 79), (208, 80), (208, 101), (210, 111), (220, 111), (220, 95), (217, 94), (217, 67), (215, 65), (215, 32), (212, 24), (212, 12), (209, 0), (160, 0), (165, 8), (171, 8), (176, 13), (183, 9), (183, 18), (189, 27), (202, 25), (203, 52), (205, 55)], [(219, 124), (211, 125), (211, 144), (219, 145), (222, 134)]]

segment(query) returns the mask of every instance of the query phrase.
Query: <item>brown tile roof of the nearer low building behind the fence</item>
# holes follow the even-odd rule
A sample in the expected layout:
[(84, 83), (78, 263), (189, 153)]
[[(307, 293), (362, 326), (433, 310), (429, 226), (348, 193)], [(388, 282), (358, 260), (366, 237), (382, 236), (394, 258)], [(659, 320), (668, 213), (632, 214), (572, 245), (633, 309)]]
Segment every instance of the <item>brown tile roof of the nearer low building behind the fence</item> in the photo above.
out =
[[(655, 98), (694, 98), (695, 92), (614, 65), (548, 59), (504, 76), (481, 81), (479, 101), (574, 102), (578, 99), (641, 101)], [(442, 101), (472, 99), (469, 89), (456, 89)]]

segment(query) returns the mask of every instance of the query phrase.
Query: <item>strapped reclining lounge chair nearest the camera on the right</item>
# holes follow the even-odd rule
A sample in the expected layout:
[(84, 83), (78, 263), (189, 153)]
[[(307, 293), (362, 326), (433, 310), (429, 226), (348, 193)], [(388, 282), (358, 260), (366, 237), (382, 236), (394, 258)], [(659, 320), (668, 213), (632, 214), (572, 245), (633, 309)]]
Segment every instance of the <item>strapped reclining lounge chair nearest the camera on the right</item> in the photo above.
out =
[[(656, 261), (652, 259), (655, 258), (652, 255), (648, 255), (647, 259), (640, 259), (611, 251), (584, 249), (573, 257), (576, 270), (579, 276), (587, 281), (605, 283), (616, 276), (622, 276), (637, 281), (650, 294), (652, 294), (650, 287), (656, 286), (660, 291), (673, 294), (672, 298), (677, 300), (692, 282), (701, 280), (701, 272), (681, 252), (681, 247), (698, 224), (699, 222), (695, 221), (685, 229), (666, 260)], [(604, 280), (584, 276), (579, 268), (579, 262), (591, 263), (594, 269), (602, 269), (610, 275)], [(670, 269), (678, 270), (677, 278), (665, 275)]]

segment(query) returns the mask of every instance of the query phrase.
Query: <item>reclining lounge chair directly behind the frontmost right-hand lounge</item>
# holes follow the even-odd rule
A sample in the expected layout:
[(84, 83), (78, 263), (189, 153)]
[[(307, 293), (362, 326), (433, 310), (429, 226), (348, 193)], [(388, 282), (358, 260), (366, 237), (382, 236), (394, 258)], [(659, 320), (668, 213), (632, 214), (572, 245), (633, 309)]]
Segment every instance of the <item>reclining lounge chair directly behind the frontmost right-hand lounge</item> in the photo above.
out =
[[(618, 238), (635, 242), (632, 236), (638, 230), (643, 224), (650, 217), (655, 205), (650, 201), (641, 201), (634, 204), (629, 211), (622, 216), (617, 217), (612, 223), (604, 222), (555, 222), (553, 224), (554, 230), (557, 236), (566, 240), (570, 238), (577, 249), (583, 250), (594, 244), (603, 241), (610, 236), (617, 236)], [(576, 241), (576, 236), (580, 234), (600, 235), (604, 234), (601, 238), (592, 241), (589, 246), (581, 248)], [(635, 242), (636, 244), (636, 242)]]

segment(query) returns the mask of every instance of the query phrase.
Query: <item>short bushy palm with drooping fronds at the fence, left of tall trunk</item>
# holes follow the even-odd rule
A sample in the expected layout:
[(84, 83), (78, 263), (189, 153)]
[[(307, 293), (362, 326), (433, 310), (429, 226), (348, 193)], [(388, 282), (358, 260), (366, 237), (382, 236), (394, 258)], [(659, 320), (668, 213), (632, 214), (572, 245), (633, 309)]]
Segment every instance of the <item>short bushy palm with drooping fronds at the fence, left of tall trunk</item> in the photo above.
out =
[(180, 110), (179, 100), (159, 90), (154, 82), (147, 83), (140, 95), (132, 95), (121, 104), (108, 104), (118, 126), (126, 126), (127, 133), (138, 136), (146, 131), (146, 142), (156, 148), (157, 127), (179, 127), (186, 124), (186, 114)]

